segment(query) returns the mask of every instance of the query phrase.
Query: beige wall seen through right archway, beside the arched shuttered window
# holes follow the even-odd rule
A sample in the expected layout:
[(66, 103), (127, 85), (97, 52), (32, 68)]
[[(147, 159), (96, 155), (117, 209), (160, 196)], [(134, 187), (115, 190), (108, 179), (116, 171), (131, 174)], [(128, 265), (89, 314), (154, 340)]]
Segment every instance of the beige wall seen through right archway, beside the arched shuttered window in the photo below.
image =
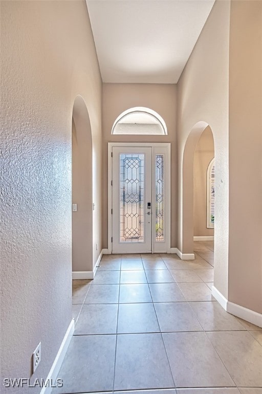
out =
[(208, 126), (194, 151), (194, 237), (213, 237), (207, 228), (207, 168), (214, 157), (214, 139)]

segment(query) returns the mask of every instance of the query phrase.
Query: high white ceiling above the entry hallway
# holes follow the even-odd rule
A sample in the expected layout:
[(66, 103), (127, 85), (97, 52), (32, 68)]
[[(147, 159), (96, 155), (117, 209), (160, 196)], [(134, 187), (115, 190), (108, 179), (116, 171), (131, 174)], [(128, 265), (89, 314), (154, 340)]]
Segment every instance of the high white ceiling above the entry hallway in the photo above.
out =
[(103, 82), (177, 83), (214, 0), (86, 0)]

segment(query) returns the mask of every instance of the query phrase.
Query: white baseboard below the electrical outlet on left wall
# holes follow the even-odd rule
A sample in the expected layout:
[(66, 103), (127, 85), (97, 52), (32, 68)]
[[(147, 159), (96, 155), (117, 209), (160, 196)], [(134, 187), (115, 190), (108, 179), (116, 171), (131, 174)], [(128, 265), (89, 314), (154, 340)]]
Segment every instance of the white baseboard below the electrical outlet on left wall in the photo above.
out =
[[(73, 336), (74, 329), (75, 329), (75, 321), (74, 321), (74, 319), (72, 319), (71, 323), (67, 329), (67, 332), (65, 332), (62, 343), (59, 347), (58, 353), (56, 354), (55, 361), (53, 362), (53, 365), (50, 369), (50, 372), (48, 374), (46, 381), (51, 382), (51, 380), (52, 380), (53, 384), (55, 384), (58, 372), (61, 368), (64, 356), (65, 356), (65, 353), (68, 350), (71, 338)], [(52, 391), (52, 387), (43, 387), (40, 391), (40, 394), (51, 394), (51, 391)]]

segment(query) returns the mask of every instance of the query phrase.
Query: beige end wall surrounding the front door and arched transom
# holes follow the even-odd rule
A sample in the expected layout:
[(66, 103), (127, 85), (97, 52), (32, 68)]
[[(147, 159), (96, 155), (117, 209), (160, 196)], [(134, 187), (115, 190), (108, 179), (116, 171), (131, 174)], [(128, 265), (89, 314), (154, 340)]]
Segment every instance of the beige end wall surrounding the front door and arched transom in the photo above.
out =
[[(176, 85), (103, 84), (103, 247), (107, 248), (107, 143), (168, 142), (171, 143), (171, 247), (177, 246), (177, 138)], [(164, 119), (168, 135), (112, 135), (116, 118), (126, 109), (147, 107)]]

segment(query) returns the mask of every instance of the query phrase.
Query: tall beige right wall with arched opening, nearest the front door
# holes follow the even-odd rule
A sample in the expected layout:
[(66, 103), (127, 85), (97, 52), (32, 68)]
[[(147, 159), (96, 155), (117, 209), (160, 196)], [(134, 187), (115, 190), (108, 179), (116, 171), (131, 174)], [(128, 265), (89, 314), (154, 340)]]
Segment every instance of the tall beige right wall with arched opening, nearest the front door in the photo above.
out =
[[(215, 286), (226, 298), (228, 295), (229, 19), (230, 2), (215, 2), (178, 82), (178, 247), (185, 253), (193, 251), (193, 152), (201, 132), (208, 124), (214, 135), (217, 180)], [(187, 152), (184, 152), (185, 146)], [(184, 167), (182, 167), (183, 156)]]

